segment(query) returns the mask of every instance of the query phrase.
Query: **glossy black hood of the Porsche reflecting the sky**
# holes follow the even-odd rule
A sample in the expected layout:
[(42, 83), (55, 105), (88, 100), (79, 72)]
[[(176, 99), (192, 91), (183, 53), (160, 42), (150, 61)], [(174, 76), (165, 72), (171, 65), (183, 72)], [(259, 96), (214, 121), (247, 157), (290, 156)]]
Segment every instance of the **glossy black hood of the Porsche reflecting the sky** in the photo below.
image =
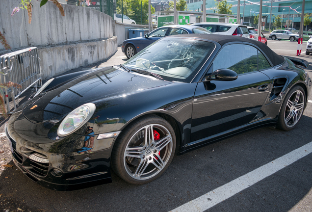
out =
[(27, 102), (24, 116), (35, 124), (62, 117), (78, 106), (172, 83), (150, 76), (104, 68), (74, 79)]

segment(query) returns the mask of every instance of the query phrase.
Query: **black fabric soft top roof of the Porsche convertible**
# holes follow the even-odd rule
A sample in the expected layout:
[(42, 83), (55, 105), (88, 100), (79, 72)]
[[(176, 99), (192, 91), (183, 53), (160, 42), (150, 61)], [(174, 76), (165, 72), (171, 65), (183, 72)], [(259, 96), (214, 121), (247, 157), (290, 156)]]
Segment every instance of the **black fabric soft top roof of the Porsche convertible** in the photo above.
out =
[[(221, 46), (226, 45), (227, 43), (230, 42), (244, 42), (244, 43), (251, 43), (265, 53), (265, 55), (271, 60), (273, 63), (273, 66), (280, 65), (285, 61), (285, 58), (278, 55), (277, 53), (273, 52), (269, 47), (267, 47), (265, 44), (253, 40), (253, 39), (248, 39), (244, 37), (239, 37), (239, 36), (231, 36), (231, 35), (219, 35), (219, 34), (182, 34), (182, 35), (174, 35), (175, 37), (189, 37), (189, 38), (199, 38), (199, 39), (205, 39), (205, 40), (210, 40), (210, 41), (215, 41), (218, 42)], [(172, 36), (170, 36), (172, 37)]]

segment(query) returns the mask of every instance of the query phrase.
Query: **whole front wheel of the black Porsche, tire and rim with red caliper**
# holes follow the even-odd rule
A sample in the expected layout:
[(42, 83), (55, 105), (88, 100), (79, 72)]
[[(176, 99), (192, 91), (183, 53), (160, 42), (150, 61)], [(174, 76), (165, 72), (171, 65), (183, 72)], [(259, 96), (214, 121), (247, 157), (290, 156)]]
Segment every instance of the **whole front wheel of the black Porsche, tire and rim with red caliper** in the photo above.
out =
[(114, 172), (131, 184), (145, 184), (158, 178), (169, 166), (176, 149), (171, 125), (156, 115), (131, 123), (118, 136), (111, 163)]

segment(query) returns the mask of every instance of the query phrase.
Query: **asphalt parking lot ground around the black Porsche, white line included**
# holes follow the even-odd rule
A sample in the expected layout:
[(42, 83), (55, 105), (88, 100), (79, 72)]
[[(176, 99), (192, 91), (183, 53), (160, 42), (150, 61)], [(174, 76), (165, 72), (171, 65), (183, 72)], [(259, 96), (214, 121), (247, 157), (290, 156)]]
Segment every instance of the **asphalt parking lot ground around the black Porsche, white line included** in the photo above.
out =
[[(296, 42), (268, 40), (268, 46), (282, 55), (297, 51)], [(299, 57), (310, 63), (312, 77), (312, 55), (303, 50)], [(83, 69), (126, 60), (119, 47), (111, 58)], [(312, 96), (292, 131), (258, 128), (176, 156), (149, 184), (130, 185), (113, 174), (111, 184), (66, 192), (37, 185), (17, 170), (2, 133), (0, 164), (13, 167), (0, 167), (0, 211), (311, 212), (311, 126)]]

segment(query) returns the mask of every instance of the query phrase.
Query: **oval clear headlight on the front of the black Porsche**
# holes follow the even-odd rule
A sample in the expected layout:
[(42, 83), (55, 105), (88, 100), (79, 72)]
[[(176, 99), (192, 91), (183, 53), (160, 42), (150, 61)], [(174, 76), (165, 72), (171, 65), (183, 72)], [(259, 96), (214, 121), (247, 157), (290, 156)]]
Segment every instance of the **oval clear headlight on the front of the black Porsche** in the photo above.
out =
[(77, 131), (92, 117), (95, 111), (93, 103), (87, 103), (70, 112), (57, 129), (58, 136), (64, 137)]

